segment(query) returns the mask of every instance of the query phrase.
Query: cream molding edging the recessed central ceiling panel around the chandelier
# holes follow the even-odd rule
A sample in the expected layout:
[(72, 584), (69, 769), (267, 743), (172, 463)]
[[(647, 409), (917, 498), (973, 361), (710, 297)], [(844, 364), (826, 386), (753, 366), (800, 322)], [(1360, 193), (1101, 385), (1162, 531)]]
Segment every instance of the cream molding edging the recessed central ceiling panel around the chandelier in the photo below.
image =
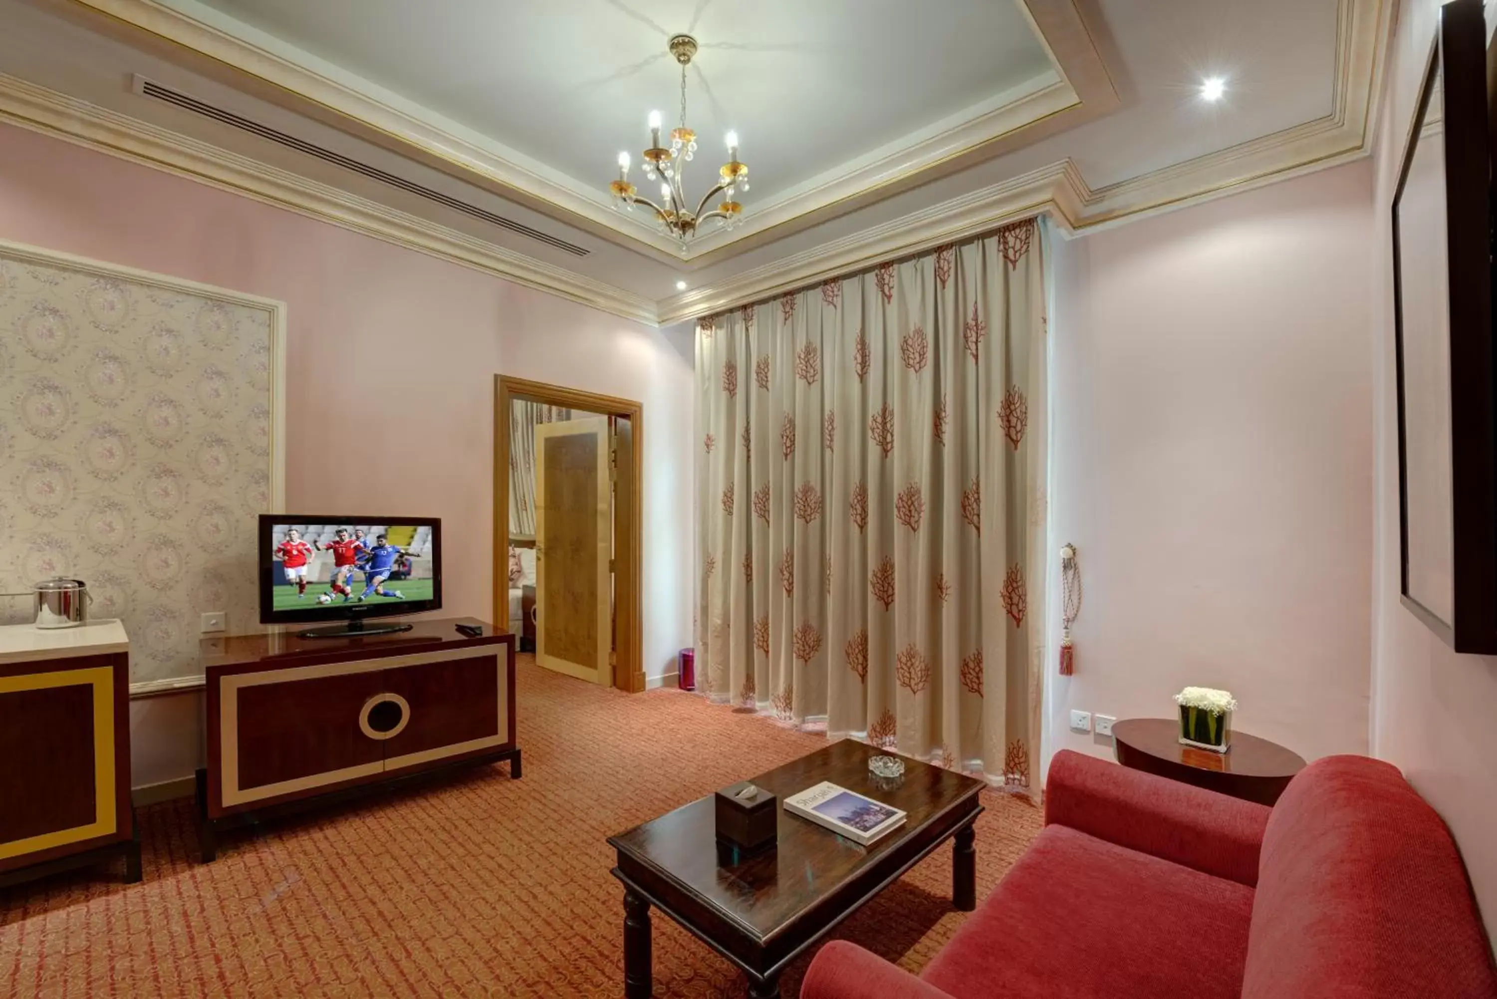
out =
[[(1003, 0), (996, 0), (1003, 1)], [(1076, 0), (1007, 0), (1024, 15), (1051, 61), (1051, 73), (1015, 87), (1010, 99), (976, 105), (754, 202), (732, 234), (714, 231), (683, 253), (675, 240), (638, 216), (617, 213), (599, 184), (582, 186), (481, 132), (452, 121), (376, 82), (260, 31), (199, 0), (66, 0), (114, 25), (145, 31), (169, 48), (205, 57), (259, 84), (257, 96), (442, 169), (593, 235), (680, 265), (711, 255), (737, 256), (790, 232), (853, 211), (1117, 106), (1118, 96)], [(998, 100), (998, 97), (996, 97)], [(1039, 127), (1039, 130), (1036, 130)]]

